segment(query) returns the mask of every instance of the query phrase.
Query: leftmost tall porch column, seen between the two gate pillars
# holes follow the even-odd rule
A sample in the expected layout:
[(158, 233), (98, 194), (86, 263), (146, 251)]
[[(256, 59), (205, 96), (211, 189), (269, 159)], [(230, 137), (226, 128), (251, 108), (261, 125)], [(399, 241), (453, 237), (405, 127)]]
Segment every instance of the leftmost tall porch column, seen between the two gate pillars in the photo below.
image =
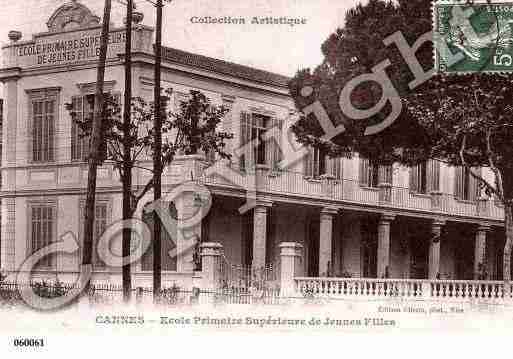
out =
[(257, 201), (253, 210), (253, 269), (265, 267), (267, 246), (267, 213), (272, 202)]

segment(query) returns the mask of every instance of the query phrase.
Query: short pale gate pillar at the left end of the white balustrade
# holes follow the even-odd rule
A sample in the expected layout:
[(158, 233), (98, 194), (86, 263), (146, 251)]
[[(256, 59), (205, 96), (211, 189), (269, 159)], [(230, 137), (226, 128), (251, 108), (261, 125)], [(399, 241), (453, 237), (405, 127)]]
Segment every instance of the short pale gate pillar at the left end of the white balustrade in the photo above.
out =
[(296, 295), (294, 278), (303, 275), (302, 249), (303, 246), (299, 243), (283, 242), (280, 244), (280, 296), (282, 297)]

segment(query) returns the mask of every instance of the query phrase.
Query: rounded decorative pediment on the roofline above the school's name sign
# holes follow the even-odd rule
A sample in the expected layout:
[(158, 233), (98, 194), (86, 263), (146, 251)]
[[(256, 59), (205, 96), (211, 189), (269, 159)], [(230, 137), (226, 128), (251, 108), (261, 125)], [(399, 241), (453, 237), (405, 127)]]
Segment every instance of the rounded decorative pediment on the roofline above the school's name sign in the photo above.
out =
[(50, 32), (84, 29), (100, 25), (100, 18), (84, 5), (72, 0), (58, 8), (46, 25)]

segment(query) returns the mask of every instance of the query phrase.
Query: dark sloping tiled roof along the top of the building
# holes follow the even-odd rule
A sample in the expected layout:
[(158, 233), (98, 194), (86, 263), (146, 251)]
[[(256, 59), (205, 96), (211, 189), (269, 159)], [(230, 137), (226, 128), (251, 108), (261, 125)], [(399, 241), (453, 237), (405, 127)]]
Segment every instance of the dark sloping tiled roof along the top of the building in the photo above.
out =
[(224, 75), (240, 77), (246, 80), (261, 82), (268, 85), (287, 87), (290, 78), (272, 72), (243, 66), (228, 61), (214, 59), (212, 57), (193, 54), (190, 52), (162, 47), (163, 59), (189, 65), (204, 70), (218, 72)]

